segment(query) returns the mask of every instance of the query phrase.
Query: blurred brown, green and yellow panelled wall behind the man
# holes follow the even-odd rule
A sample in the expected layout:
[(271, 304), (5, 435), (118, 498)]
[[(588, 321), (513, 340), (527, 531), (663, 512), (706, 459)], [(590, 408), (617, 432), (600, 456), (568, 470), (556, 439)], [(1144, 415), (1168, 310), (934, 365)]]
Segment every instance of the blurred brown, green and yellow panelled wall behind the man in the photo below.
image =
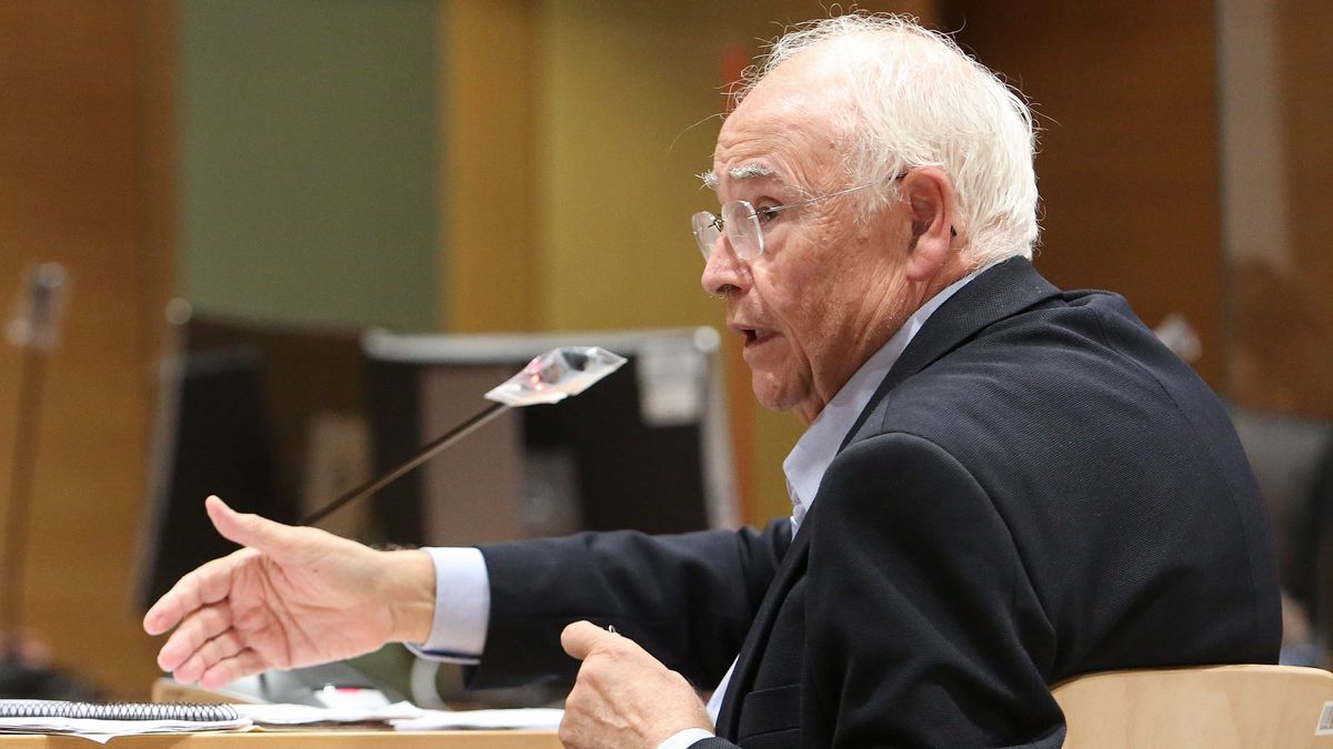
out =
[[(1333, 556), (1333, 4), (866, 1), (956, 32), (1042, 128), (1036, 264), (1125, 295), (1228, 401), (1300, 645)], [(686, 235), (724, 92), (812, 0), (0, 3), (0, 313), (59, 261), (40, 418), (0, 348), (0, 472), (32, 444), (24, 624), (143, 698), (135, 554), (169, 300), (259, 327), (721, 329)], [(718, 352), (737, 517), (789, 512), (793, 417)], [(1162, 445), (1164, 450), (1172, 449)], [(201, 500), (203, 497), (200, 497)], [(8, 502), (0, 496), (0, 502)], [(8, 570), (0, 570), (0, 582)]]

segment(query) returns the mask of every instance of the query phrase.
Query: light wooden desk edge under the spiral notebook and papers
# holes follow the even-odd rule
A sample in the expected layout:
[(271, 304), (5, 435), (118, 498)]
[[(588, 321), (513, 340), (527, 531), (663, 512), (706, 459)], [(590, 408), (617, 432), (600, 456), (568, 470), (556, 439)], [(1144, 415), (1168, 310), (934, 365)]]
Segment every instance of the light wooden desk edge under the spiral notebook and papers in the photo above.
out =
[[(88, 749), (72, 736), (0, 736), (0, 749)], [(127, 736), (112, 749), (559, 749), (553, 730), (271, 730)]]

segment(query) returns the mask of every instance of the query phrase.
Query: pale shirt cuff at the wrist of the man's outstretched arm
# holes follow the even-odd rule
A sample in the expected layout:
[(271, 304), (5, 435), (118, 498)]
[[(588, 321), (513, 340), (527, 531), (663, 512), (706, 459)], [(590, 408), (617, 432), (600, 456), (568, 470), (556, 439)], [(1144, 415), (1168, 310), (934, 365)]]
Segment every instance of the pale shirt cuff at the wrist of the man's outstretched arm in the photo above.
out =
[(413, 653), (439, 661), (476, 664), (491, 624), (491, 576), (481, 549), (427, 548), (435, 562), (435, 621)]

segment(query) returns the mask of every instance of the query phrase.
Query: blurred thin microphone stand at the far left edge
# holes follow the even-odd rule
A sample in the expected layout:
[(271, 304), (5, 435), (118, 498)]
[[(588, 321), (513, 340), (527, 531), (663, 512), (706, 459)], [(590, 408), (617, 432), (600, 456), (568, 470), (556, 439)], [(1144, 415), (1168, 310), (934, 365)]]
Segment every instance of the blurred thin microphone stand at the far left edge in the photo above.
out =
[(60, 293), (65, 271), (59, 263), (37, 267), (29, 279), (28, 307), (15, 320), (11, 340), (25, 349), (19, 368), (19, 410), (9, 461), (9, 508), (5, 522), (4, 585), (0, 586), (0, 697), (92, 700), (97, 689), (56, 670), (36, 654), (39, 644), (23, 633), (23, 582), (28, 546), (28, 516), (32, 506), (37, 458), (37, 426), (41, 416), (47, 355), (55, 348)]

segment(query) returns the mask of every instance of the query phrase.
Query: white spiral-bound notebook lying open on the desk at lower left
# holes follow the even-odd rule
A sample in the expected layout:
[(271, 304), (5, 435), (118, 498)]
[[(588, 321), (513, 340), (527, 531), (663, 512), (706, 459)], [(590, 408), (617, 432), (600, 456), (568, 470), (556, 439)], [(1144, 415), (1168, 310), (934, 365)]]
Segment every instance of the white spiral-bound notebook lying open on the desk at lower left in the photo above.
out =
[(0, 733), (63, 733), (105, 742), (117, 736), (244, 730), (252, 725), (232, 705), (0, 700)]

